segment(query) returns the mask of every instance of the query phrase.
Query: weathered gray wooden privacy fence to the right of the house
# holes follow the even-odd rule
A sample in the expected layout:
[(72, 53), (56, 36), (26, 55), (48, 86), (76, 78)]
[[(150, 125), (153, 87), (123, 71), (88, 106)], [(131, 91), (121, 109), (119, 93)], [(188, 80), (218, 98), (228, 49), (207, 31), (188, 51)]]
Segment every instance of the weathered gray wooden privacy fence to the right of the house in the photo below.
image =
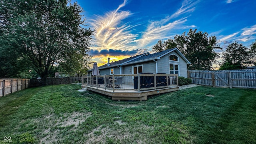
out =
[(256, 70), (188, 70), (192, 84), (229, 88), (256, 88)]

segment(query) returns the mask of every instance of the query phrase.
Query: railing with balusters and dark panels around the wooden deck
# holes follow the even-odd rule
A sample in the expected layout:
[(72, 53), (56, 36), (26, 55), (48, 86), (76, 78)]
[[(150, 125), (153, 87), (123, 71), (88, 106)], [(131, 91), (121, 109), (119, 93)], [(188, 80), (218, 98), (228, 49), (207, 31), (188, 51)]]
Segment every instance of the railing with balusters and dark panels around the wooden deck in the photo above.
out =
[(178, 86), (177, 74), (113, 74), (82, 77), (82, 86), (104, 90), (156, 90)]

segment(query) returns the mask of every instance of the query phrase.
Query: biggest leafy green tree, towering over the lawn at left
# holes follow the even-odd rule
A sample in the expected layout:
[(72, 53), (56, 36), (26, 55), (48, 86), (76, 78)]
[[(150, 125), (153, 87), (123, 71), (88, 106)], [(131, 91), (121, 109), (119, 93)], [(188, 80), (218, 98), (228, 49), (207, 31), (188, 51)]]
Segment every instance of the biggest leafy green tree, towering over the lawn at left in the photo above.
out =
[(68, 55), (86, 56), (94, 30), (83, 28), (85, 19), (77, 3), (66, 0), (3, 0), (4, 11), (0, 40), (10, 42), (12, 49), (31, 61), (43, 81), (54, 63), (64, 62)]

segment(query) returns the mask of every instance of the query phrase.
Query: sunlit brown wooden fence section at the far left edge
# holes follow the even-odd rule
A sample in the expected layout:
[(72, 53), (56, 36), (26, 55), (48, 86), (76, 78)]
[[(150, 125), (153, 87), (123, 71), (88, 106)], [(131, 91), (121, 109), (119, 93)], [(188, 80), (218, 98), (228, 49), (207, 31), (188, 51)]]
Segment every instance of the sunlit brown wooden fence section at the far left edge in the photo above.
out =
[(0, 96), (5, 96), (29, 87), (30, 79), (4, 78), (0, 79)]

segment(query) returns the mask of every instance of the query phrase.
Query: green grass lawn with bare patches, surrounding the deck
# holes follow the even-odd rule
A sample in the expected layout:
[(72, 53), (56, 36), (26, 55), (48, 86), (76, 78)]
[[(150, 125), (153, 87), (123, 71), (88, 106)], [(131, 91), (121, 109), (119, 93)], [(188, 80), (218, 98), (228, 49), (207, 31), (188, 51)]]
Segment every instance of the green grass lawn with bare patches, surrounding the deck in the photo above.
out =
[(256, 90), (198, 86), (118, 102), (78, 89), (45, 86), (1, 97), (0, 144), (256, 143)]

